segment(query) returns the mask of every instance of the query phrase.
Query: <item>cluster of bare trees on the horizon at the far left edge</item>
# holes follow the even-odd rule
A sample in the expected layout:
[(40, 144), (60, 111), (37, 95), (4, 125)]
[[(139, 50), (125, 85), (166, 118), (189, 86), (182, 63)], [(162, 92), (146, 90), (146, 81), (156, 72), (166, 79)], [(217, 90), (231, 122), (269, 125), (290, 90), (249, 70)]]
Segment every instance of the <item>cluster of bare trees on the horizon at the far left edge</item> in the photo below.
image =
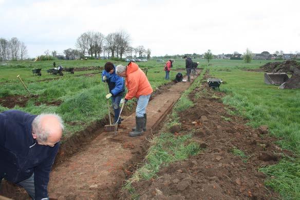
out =
[(27, 56), (27, 47), (18, 38), (0, 38), (0, 61), (24, 59)]

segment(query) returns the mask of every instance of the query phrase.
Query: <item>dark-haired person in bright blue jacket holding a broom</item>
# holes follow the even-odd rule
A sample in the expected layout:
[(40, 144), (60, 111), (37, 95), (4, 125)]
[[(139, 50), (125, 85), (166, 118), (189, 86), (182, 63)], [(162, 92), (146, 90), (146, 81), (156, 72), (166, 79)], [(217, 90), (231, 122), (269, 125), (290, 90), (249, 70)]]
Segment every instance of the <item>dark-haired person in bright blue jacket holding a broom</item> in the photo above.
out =
[[(116, 66), (111, 62), (107, 62), (102, 72), (102, 81), (108, 85), (109, 93), (105, 97), (106, 99), (111, 97), (115, 111), (114, 123), (116, 123), (120, 115), (120, 102), (125, 92), (124, 79), (116, 74)], [(120, 117), (118, 124), (121, 124), (121, 121)]]

